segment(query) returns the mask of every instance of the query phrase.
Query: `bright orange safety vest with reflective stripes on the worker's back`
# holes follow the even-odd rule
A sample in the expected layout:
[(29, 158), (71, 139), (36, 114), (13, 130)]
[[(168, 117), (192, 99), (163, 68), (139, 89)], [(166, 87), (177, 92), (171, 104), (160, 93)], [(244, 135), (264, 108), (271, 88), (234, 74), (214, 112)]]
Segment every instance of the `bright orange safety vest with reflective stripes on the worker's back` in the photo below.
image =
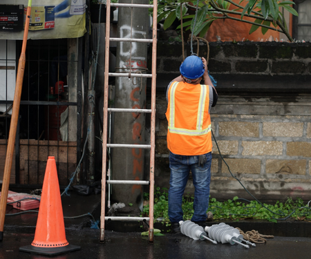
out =
[(209, 86), (173, 81), (168, 92), (167, 147), (176, 155), (211, 152)]

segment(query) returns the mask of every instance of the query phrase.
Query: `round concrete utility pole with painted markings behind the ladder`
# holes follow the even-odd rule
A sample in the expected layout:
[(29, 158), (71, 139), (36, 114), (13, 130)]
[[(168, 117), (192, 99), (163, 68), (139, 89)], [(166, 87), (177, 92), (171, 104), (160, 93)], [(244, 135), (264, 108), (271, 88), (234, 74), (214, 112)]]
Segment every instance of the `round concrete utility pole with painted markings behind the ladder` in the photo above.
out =
[[(120, 0), (119, 3), (131, 3)], [(133, 0), (133, 3), (148, 4), (148, 0)], [(118, 35), (121, 38), (148, 39), (149, 16), (146, 8), (119, 8)], [(116, 72), (145, 73), (147, 70), (147, 44), (120, 42), (117, 44)], [(121, 68), (121, 69), (120, 69)], [(145, 108), (147, 79), (116, 77), (115, 108)], [(113, 144), (145, 144), (144, 113), (115, 113)], [(113, 148), (112, 179), (144, 180), (144, 149)], [(112, 200), (129, 203), (142, 209), (142, 186), (114, 184)]]

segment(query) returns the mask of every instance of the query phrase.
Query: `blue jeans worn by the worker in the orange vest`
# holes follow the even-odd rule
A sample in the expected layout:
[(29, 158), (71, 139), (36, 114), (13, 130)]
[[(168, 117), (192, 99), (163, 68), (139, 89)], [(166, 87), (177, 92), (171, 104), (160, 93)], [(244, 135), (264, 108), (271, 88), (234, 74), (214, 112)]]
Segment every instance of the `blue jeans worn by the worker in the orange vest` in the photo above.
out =
[(192, 172), (194, 182), (194, 215), (191, 221), (205, 221), (209, 207), (209, 183), (211, 182), (211, 152), (205, 154), (207, 161), (198, 166), (198, 155), (176, 155), (169, 152), (169, 220), (182, 219), (182, 195)]

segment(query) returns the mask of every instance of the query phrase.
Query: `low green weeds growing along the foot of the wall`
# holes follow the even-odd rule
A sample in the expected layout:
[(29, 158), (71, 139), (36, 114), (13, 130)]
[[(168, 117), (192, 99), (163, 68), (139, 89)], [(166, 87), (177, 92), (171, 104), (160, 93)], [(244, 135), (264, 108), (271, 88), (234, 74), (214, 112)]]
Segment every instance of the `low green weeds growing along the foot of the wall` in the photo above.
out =
[[(160, 219), (163, 224), (170, 225), (169, 222), (169, 202), (167, 188), (157, 187), (154, 194), (154, 218)], [(144, 193), (144, 200), (149, 200), (149, 193)], [(194, 213), (194, 197), (186, 195), (182, 198), (182, 210), (184, 220), (191, 220)], [(311, 220), (311, 209), (302, 199), (292, 200), (288, 198), (285, 202), (275, 202), (275, 204), (263, 204), (261, 206), (256, 200), (239, 199), (237, 196), (232, 200), (218, 202), (215, 198), (209, 198), (209, 209), (217, 220), (267, 220), (278, 222), (279, 220)], [(267, 209), (266, 209), (267, 208)], [(149, 204), (144, 206), (142, 215), (149, 215)]]

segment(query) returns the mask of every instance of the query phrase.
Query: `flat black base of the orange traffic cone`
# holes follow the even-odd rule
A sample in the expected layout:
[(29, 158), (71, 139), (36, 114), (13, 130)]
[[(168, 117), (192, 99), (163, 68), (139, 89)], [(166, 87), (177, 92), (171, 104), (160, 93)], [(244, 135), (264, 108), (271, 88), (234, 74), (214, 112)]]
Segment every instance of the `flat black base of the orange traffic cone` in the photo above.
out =
[(68, 244), (65, 247), (34, 247), (29, 244), (25, 247), (19, 247), (19, 251), (28, 252), (28, 253), (37, 253), (44, 256), (57, 256), (61, 253), (69, 253), (72, 251), (79, 250), (80, 247), (73, 244)]

